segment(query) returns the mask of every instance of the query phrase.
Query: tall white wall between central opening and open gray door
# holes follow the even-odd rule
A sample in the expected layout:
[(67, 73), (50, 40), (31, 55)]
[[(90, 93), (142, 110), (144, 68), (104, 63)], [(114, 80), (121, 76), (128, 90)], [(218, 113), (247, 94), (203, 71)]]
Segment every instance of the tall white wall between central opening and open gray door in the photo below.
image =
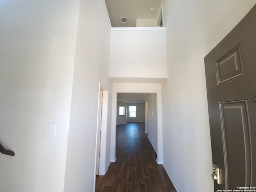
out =
[(256, 0), (163, 2), (168, 63), (162, 87), (164, 166), (179, 192), (212, 192), (204, 56)]

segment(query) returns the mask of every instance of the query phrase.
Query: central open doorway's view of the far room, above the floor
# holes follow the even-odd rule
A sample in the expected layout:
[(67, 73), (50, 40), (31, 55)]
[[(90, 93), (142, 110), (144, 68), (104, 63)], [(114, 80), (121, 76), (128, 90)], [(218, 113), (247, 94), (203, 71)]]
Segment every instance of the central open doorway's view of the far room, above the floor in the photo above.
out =
[(156, 93), (117, 93), (116, 129), (129, 123), (143, 124), (144, 132), (158, 154), (157, 111)]

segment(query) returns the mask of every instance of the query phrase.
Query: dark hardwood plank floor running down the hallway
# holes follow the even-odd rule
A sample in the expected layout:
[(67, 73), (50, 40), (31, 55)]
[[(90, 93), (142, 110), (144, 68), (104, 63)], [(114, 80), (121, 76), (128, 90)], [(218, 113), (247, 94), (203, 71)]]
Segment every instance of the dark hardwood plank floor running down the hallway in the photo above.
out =
[(116, 128), (116, 162), (96, 176), (96, 192), (176, 192), (144, 132), (144, 123)]

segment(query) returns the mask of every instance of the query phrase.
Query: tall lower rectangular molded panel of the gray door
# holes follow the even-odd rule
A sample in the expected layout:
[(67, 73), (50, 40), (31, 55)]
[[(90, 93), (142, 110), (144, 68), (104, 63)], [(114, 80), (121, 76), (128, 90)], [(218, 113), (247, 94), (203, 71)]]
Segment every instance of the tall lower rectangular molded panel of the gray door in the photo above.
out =
[[(220, 102), (219, 105), (226, 189), (235, 188), (239, 182), (241, 186), (251, 186), (252, 150), (247, 100)], [(241, 157), (241, 151), (245, 158)], [(228, 157), (236, 158), (235, 163)], [(238, 172), (244, 172), (244, 180), (237, 176), (238, 169)]]

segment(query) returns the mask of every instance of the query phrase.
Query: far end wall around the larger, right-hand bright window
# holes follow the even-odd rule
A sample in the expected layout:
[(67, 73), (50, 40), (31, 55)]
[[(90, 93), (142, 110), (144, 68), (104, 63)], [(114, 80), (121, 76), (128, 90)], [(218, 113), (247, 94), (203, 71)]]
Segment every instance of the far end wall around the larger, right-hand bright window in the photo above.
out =
[[(129, 106), (136, 106), (136, 117), (129, 117)], [(145, 122), (145, 104), (144, 103), (127, 103), (127, 122)]]

